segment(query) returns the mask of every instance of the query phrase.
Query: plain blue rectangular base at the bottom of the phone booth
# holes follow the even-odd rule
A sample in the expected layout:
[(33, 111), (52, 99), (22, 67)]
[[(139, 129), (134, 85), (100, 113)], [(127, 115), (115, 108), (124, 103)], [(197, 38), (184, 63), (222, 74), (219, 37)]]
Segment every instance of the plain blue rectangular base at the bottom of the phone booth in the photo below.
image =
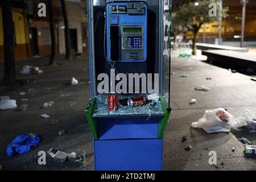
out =
[(94, 140), (96, 171), (160, 171), (163, 139)]

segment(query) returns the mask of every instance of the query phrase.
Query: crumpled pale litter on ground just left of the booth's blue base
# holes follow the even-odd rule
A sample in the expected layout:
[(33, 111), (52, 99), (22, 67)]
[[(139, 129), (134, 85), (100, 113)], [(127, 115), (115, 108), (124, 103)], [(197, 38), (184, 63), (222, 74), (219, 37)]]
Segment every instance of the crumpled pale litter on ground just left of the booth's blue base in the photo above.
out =
[(48, 150), (47, 153), (51, 155), (51, 157), (58, 163), (64, 163), (67, 160), (85, 163), (85, 153), (84, 155), (76, 154), (76, 152), (71, 152), (71, 154), (68, 154), (63, 151), (55, 150), (53, 148)]

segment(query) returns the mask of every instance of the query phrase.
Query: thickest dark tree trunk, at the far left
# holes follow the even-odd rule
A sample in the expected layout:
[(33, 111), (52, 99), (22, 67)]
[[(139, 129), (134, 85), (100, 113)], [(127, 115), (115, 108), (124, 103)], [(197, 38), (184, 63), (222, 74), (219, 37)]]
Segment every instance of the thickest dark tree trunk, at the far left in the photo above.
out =
[(11, 1), (2, 1), (2, 16), (3, 16), (3, 44), (5, 57), (5, 70), (3, 82), (6, 85), (11, 85), (16, 82), (15, 73), (15, 58), (14, 58), (14, 23), (11, 13)]

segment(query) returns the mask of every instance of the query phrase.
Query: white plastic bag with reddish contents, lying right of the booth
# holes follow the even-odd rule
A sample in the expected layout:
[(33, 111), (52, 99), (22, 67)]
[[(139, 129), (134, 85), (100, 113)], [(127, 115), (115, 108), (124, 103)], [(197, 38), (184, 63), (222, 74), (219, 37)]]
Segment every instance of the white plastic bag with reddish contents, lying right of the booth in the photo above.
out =
[(202, 128), (207, 133), (229, 132), (233, 116), (223, 108), (206, 110), (203, 118), (192, 123), (192, 127)]

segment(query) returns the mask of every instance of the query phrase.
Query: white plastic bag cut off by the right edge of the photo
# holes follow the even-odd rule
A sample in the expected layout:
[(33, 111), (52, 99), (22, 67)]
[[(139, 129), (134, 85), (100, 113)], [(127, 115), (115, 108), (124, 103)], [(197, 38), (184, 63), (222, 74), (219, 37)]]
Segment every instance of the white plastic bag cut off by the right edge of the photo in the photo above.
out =
[(253, 114), (248, 109), (243, 110), (241, 117), (232, 121), (232, 127), (235, 130), (249, 129), (256, 130), (256, 121)]

